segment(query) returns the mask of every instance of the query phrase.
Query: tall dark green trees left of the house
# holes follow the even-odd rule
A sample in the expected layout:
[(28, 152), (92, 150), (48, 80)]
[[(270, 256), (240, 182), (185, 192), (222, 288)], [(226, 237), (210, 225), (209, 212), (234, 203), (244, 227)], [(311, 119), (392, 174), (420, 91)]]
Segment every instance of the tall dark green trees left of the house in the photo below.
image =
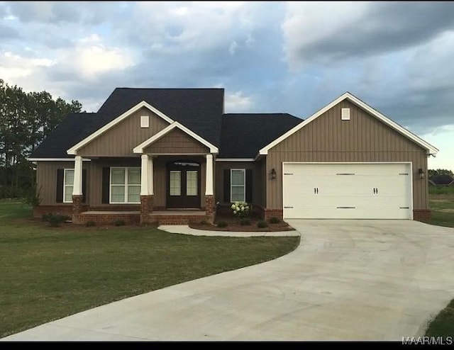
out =
[(47, 91), (24, 92), (0, 79), (0, 198), (26, 196), (35, 184), (26, 159), (69, 113), (82, 103), (52, 98)]

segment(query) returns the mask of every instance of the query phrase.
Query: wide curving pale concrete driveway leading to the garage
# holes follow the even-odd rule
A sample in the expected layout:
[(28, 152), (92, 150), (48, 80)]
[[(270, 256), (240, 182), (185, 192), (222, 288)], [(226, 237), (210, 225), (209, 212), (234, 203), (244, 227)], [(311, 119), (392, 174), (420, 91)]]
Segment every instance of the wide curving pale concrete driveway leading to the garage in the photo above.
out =
[(454, 229), (406, 220), (290, 220), (297, 250), (2, 340), (397, 340), (454, 298)]

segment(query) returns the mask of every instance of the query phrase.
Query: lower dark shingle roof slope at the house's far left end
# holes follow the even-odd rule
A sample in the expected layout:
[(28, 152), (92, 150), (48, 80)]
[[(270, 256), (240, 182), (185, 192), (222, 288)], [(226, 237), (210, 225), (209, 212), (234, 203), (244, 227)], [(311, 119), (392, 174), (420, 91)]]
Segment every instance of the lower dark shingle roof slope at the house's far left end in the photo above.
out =
[(31, 154), (31, 158), (74, 158), (66, 150), (88, 135), (96, 113), (71, 113), (52, 130)]

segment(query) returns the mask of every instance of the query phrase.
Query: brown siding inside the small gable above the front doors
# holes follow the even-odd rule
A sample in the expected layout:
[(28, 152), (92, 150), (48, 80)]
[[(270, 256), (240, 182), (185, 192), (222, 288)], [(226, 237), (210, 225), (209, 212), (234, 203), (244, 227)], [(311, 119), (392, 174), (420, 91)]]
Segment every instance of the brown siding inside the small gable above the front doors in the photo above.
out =
[(199, 141), (194, 140), (186, 132), (175, 128), (159, 140), (153, 142), (143, 149), (144, 153), (209, 153), (208, 147), (202, 145)]

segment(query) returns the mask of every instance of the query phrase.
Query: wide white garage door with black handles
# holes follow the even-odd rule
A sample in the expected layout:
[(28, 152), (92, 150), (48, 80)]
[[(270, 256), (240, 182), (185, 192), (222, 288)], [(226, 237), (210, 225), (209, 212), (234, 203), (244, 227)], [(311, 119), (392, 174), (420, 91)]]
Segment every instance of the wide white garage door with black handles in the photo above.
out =
[(411, 219), (408, 163), (284, 163), (285, 219)]

